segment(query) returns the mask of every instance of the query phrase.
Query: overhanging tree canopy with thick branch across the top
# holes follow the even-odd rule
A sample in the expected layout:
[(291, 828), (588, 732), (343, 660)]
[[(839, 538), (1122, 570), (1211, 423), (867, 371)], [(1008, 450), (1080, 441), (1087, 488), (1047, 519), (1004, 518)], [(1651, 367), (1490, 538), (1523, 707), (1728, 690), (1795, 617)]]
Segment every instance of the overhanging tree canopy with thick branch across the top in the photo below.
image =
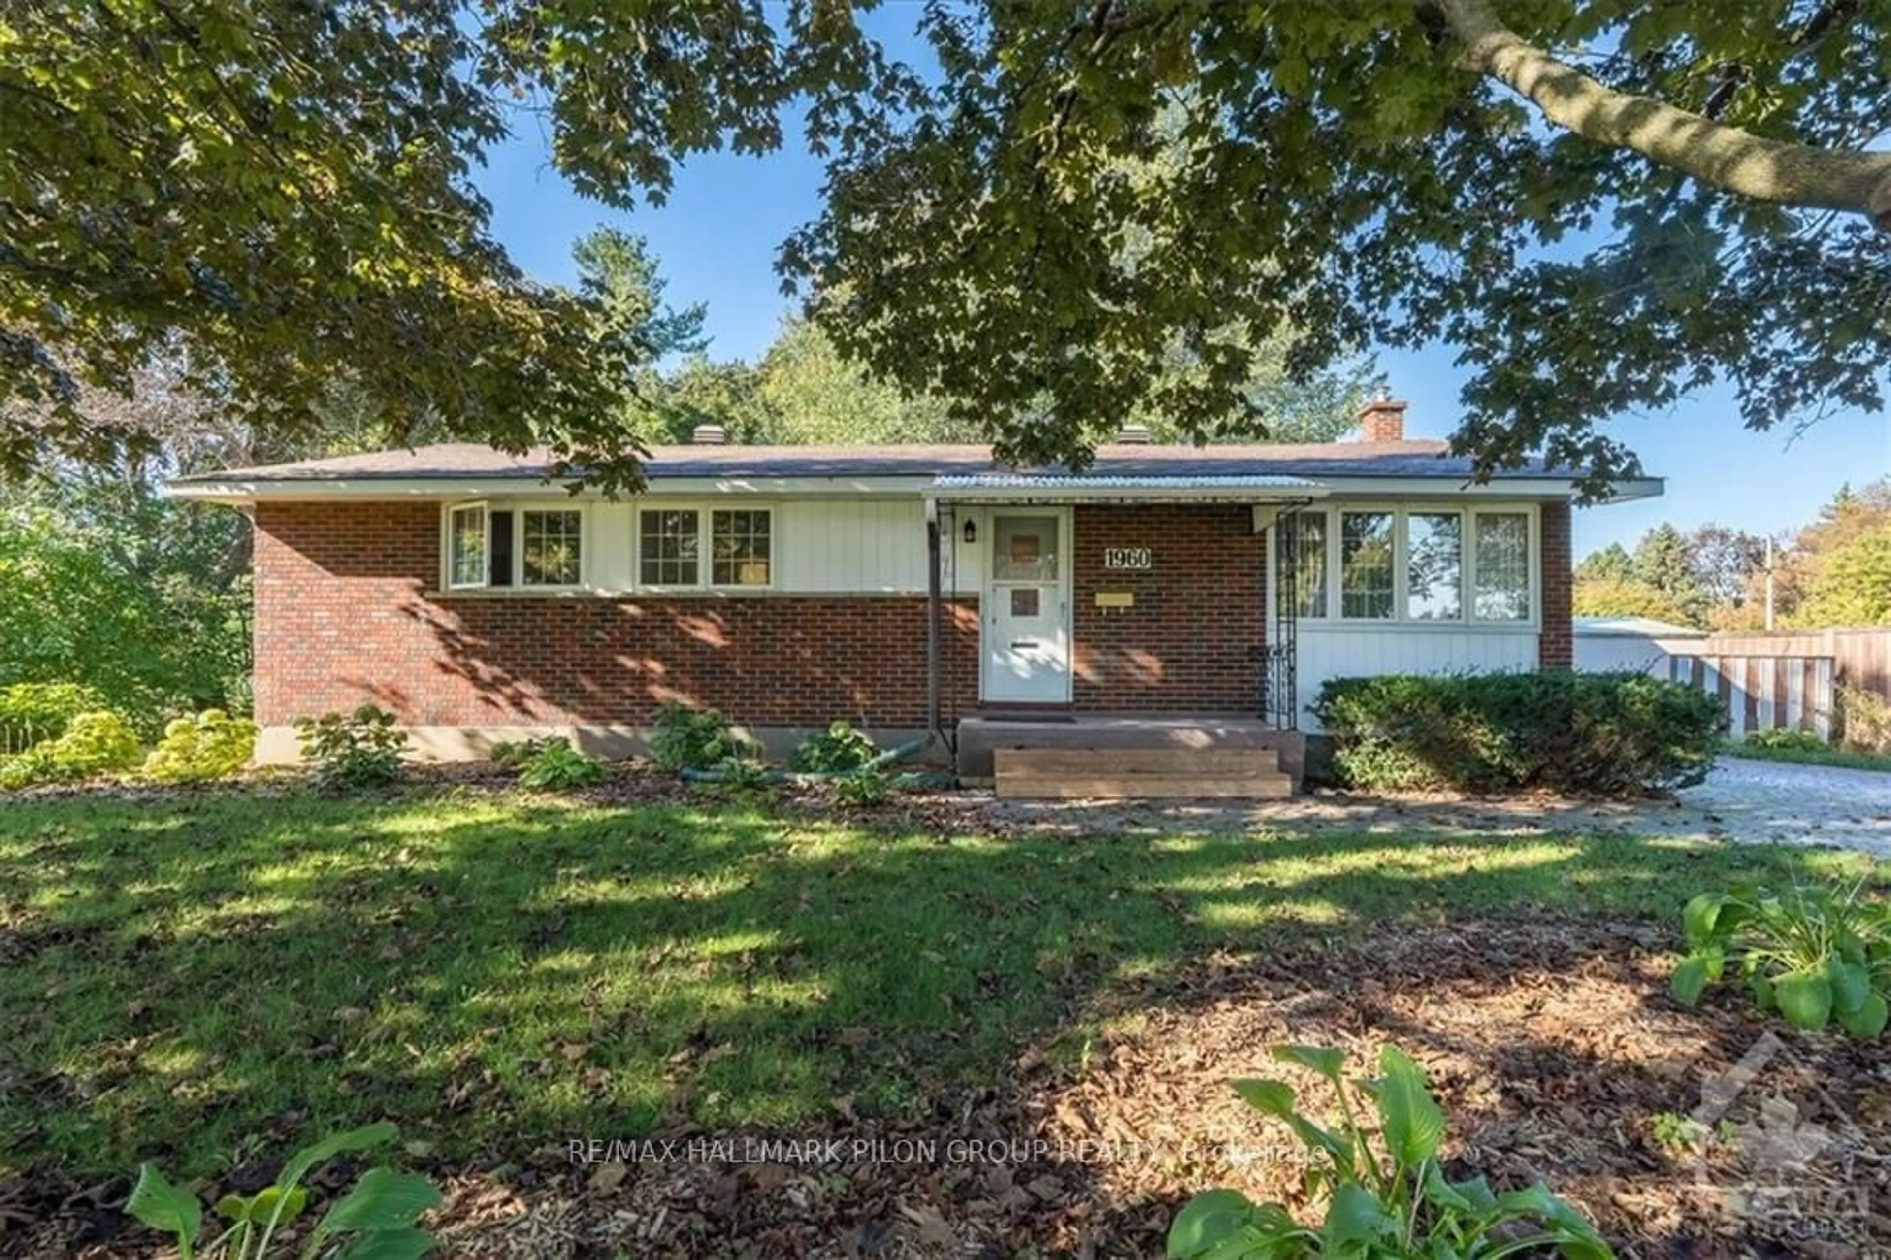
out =
[[(1891, 0), (987, 0), (902, 64), (849, 6), (23, 0), (0, 17), (0, 456), (96, 454), (81, 382), (168, 339), (293, 428), (374, 407), (635, 475), (635, 344), (528, 282), (473, 187), (511, 98), (581, 191), (800, 125), (826, 202), (781, 272), (838, 350), (1019, 460), (1123, 420), (1263, 431), (1295, 382), (1447, 339), (1460, 450), (1600, 488), (1600, 422), (1730, 380), (1745, 422), (1880, 409)], [(798, 117), (790, 117), (790, 114)], [(1186, 371), (1174, 371), (1176, 363)], [(21, 416), (30, 414), (26, 422)]]

